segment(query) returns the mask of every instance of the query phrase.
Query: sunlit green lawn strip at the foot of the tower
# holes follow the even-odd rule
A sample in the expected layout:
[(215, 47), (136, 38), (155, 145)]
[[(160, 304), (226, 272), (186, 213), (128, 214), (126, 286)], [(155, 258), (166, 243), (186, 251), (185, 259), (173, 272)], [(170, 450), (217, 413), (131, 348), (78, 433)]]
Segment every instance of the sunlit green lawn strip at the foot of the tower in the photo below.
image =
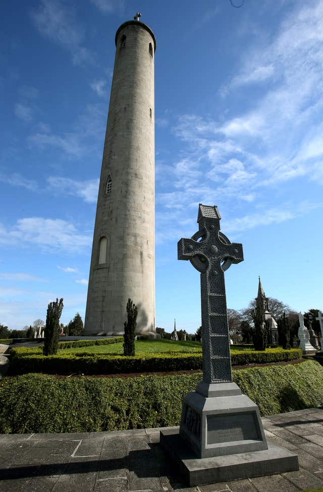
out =
[[(92, 347), (78, 347), (76, 349), (61, 349), (58, 354), (64, 355), (77, 352), (87, 352), (93, 354), (123, 354), (123, 343), (112, 343), (111, 345), (93, 345)], [(135, 342), (136, 354), (160, 353), (160, 352), (202, 352), (202, 344), (198, 341), (174, 341), (174, 340), (138, 340)]]

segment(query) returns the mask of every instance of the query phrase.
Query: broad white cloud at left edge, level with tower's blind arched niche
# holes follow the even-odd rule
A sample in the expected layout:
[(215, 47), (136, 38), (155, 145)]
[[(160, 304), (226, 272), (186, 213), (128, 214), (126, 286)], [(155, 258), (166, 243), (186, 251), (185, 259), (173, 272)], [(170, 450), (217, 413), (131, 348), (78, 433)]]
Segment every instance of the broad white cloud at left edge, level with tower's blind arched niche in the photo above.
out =
[(18, 219), (11, 229), (0, 226), (1, 244), (19, 244), (24, 247), (38, 246), (48, 251), (67, 253), (89, 250), (92, 237), (79, 233), (76, 227), (62, 219), (30, 217)]

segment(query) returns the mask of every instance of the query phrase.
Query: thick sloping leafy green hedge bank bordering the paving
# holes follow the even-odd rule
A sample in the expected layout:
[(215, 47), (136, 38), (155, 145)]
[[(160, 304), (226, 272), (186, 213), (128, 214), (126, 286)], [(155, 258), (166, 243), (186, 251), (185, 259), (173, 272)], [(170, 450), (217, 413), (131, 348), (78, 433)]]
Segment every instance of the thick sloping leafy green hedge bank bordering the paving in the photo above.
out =
[[(89, 432), (178, 425), (182, 400), (201, 373), (136, 378), (0, 381), (0, 432)], [(233, 371), (233, 380), (262, 415), (323, 405), (323, 368), (315, 361)], [(15, 411), (13, 411), (13, 409)]]

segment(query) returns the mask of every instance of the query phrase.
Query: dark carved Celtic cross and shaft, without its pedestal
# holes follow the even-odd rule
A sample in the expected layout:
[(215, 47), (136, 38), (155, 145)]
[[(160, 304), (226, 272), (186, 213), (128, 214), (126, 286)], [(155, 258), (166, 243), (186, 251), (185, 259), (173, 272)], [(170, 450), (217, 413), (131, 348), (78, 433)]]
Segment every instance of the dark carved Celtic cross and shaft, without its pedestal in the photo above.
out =
[(224, 271), (243, 261), (242, 244), (220, 231), (218, 207), (199, 204), (199, 230), (178, 241), (178, 259), (201, 274), (203, 382), (231, 382), (230, 338)]

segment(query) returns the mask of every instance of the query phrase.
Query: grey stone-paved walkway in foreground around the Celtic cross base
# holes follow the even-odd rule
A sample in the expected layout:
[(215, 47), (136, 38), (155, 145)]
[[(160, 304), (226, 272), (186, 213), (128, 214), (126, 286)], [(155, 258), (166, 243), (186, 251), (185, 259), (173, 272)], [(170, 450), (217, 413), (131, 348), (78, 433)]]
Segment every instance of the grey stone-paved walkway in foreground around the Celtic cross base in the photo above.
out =
[(263, 418), (267, 439), (295, 451), (297, 472), (187, 487), (159, 429), (1, 434), (0, 490), (24, 492), (296, 492), (323, 486), (323, 407)]

